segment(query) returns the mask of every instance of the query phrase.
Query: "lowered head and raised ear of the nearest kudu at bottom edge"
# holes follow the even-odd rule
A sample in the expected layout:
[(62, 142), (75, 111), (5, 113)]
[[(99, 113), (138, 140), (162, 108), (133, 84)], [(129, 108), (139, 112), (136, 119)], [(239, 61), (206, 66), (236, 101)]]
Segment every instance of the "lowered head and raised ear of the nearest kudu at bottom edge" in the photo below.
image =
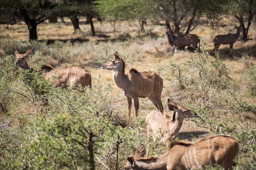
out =
[(144, 157), (146, 154), (145, 152), (145, 146), (141, 144), (137, 151), (135, 152), (134, 156), (129, 156), (126, 158), (126, 163), (124, 163), (124, 169), (125, 170), (132, 170), (132, 167), (135, 164), (135, 160)]

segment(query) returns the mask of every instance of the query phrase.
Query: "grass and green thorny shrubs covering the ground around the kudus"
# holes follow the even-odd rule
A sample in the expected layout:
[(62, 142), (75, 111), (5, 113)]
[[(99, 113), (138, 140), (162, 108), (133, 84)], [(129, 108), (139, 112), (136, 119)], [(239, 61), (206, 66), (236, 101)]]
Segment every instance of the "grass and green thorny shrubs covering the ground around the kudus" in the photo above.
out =
[[(56, 23), (46, 19), (37, 25), (37, 40), (30, 41), (25, 22), (0, 25), (1, 169), (123, 169), (126, 157), (148, 144), (145, 118), (156, 108), (149, 99), (139, 98), (139, 115), (132, 114), (127, 129), (126, 97), (114, 85), (112, 71), (100, 68), (113, 58), (112, 51), (118, 51), (126, 72), (135, 67), (155, 71), (164, 79), (164, 113), (171, 113), (168, 99), (197, 113), (196, 118), (184, 119), (176, 139), (231, 135), (240, 147), (234, 169), (255, 170), (254, 25), (248, 40), (241, 36), (232, 53), (223, 44), (213, 53), (217, 33), (235, 33), (232, 22), (237, 21), (236, 16), (223, 18), (229, 31), (220, 28), (216, 32), (211, 24), (200, 23), (191, 30), (201, 38), (200, 53), (188, 48), (174, 55), (174, 46), (165, 35), (166, 20), (157, 25), (147, 21), (142, 31), (141, 22), (134, 20), (110, 24), (93, 19), (93, 35), (91, 24), (84, 24), (86, 18), (79, 18), (83, 32), (79, 34), (73, 34), (70, 17), (64, 18), (65, 23), (59, 18)], [(25, 53), (31, 47), (27, 62), (34, 71), (15, 67), (13, 50)], [(53, 88), (36, 72), (43, 63), (54, 68), (83, 66), (92, 75), (92, 88)], [(149, 146), (148, 155), (162, 155), (168, 148), (157, 140)]]

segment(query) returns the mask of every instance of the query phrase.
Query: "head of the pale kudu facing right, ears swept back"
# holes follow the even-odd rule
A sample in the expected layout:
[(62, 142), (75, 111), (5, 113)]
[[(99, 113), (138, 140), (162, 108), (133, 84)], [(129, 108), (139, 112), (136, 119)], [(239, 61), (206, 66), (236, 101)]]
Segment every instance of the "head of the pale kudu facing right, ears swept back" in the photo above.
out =
[(197, 114), (194, 111), (189, 110), (184, 106), (178, 105), (177, 103), (173, 102), (171, 99), (168, 99), (167, 105), (169, 110), (174, 111), (174, 113), (171, 116), (171, 121), (175, 119), (175, 112), (177, 112), (178, 115), (182, 118), (191, 118), (191, 117), (197, 116)]

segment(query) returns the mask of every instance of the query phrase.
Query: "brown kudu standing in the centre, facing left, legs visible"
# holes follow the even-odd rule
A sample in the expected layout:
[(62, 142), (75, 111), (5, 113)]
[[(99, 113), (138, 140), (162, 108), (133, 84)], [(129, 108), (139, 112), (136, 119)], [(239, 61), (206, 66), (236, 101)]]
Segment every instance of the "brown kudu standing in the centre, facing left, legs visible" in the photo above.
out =
[(127, 128), (130, 126), (130, 113), (132, 99), (134, 100), (135, 116), (139, 110), (139, 97), (148, 97), (157, 110), (163, 113), (161, 93), (163, 89), (163, 79), (153, 71), (139, 72), (131, 68), (128, 73), (124, 73), (125, 63), (118, 52), (113, 52), (114, 59), (101, 65), (102, 69), (114, 70), (113, 80), (117, 87), (123, 90), (127, 97), (128, 120)]

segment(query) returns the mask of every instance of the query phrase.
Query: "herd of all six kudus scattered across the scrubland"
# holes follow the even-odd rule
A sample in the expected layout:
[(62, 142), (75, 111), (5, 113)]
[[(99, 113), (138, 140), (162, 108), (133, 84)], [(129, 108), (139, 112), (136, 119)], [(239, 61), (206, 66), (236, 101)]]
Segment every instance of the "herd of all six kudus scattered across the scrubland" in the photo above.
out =
[[(233, 44), (238, 39), (240, 32), (239, 27), (236, 34), (217, 35), (214, 38), (214, 51), (220, 44), (230, 44), (230, 51), (233, 50)], [(193, 45), (196, 49), (200, 45), (200, 39), (194, 34), (173, 34), (171, 29), (166, 31), (168, 42), (175, 45), (175, 53), (182, 46)], [(26, 58), (31, 54), (30, 49), (25, 54), (21, 54), (18, 49), (14, 50), (16, 55), (15, 66), (29, 70)], [(113, 52), (114, 58), (101, 65), (102, 69), (113, 70), (113, 80), (115, 86), (123, 90), (127, 97), (128, 117), (127, 128), (130, 126), (130, 113), (132, 99), (134, 100), (135, 116), (139, 111), (139, 97), (148, 97), (153, 105), (157, 108), (146, 116), (146, 127), (148, 141), (159, 139), (160, 142), (166, 143), (172, 137), (176, 137), (182, 127), (184, 118), (196, 117), (197, 114), (168, 99), (168, 109), (172, 111), (171, 117), (164, 114), (161, 94), (163, 89), (163, 79), (153, 71), (139, 72), (136, 68), (131, 68), (125, 73), (125, 62), (116, 51)], [(90, 73), (81, 66), (54, 69), (52, 66), (43, 65), (39, 70), (45, 76), (46, 80), (52, 82), (54, 87), (67, 88), (75, 84), (81, 84), (92, 87)], [(221, 166), (225, 170), (231, 170), (238, 157), (239, 145), (236, 139), (227, 135), (216, 135), (201, 139), (195, 143), (187, 141), (172, 141), (169, 149), (164, 155), (159, 157), (144, 157), (145, 146), (141, 145), (135, 152), (134, 156), (129, 156), (124, 165), (125, 170), (195, 170), (198, 168), (205, 169), (207, 166)], [(147, 147), (148, 153), (148, 147)]]

